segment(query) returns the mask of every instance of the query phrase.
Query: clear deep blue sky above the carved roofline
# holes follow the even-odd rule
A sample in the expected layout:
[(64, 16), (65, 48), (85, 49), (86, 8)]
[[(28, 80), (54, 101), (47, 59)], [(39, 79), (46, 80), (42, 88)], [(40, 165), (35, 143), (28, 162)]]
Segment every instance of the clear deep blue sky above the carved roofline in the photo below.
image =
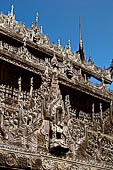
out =
[[(1, 0), (0, 11), (7, 14), (14, 5), (17, 21), (31, 27), (39, 13), (39, 25), (51, 42), (58, 39), (65, 46), (71, 41), (73, 51), (79, 46), (79, 17), (85, 55), (102, 68), (113, 59), (113, 0)], [(113, 89), (113, 83), (111, 87)]]

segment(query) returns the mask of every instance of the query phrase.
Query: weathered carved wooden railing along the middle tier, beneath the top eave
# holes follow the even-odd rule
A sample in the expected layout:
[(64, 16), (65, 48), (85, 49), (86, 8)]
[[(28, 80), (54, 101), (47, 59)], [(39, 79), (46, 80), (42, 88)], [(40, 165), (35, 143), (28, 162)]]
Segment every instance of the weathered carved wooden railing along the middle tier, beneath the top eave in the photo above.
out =
[[(45, 68), (46, 66), (46, 59), (43, 60), (43, 59), (39, 59), (37, 56), (34, 56), (32, 55), (26, 46), (22, 46), (22, 47), (13, 47), (3, 41), (0, 41), (0, 49), (1, 50), (5, 50), (7, 51), (7, 53), (9, 54), (12, 54), (15, 56), (20, 57), (20, 59), (24, 58), (24, 60), (26, 59), (26, 61), (29, 61), (35, 65), (38, 65), (39, 67), (43, 67)], [(52, 69), (52, 66), (51, 64), (49, 63), (49, 67), (50, 69)], [(63, 64), (63, 63), (59, 63), (59, 74), (62, 75), (63, 77), (65, 77), (67, 79), (67, 75), (66, 75), (66, 69), (68, 67), (68, 63), (66, 64)], [(106, 95), (112, 95), (113, 92), (112, 90), (108, 89), (107, 86), (103, 83), (101, 84), (96, 84), (96, 83), (93, 83), (91, 81), (88, 81), (88, 80), (85, 80), (83, 78), (83, 76), (81, 75), (80, 71), (79, 70), (76, 70), (75, 68), (72, 68), (72, 66), (70, 66), (70, 70), (72, 71), (73, 73), (73, 77), (72, 79), (67, 79), (67, 81), (72, 81), (73, 83), (75, 83), (76, 81), (79, 81), (79, 83), (81, 83), (81, 85), (83, 84), (83, 86), (86, 86), (86, 88), (90, 88), (91, 91), (94, 90), (94, 91), (97, 91), (98, 93), (100, 93), (101, 91), (104, 92), (104, 94)], [(101, 70), (102, 72), (102, 70)]]

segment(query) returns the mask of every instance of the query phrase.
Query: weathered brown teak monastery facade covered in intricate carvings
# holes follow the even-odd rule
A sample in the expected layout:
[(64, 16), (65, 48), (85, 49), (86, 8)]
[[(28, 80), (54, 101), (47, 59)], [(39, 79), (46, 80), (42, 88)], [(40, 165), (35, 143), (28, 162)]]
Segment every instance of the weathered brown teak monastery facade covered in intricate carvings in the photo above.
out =
[(0, 13), (0, 169), (112, 170), (112, 68)]

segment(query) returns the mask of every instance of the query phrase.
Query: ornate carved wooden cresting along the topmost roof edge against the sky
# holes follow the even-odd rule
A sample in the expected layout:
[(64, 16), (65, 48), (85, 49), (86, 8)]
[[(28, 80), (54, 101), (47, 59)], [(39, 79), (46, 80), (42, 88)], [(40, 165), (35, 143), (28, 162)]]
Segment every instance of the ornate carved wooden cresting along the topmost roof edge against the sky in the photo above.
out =
[[(24, 24), (21, 24), (15, 20), (15, 17), (13, 14), (10, 14), (8, 16), (0, 13), (0, 28), (6, 30), (9, 30), (9, 32), (19, 36), (22, 38), (22, 40), (25, 38), (26, 41), (33, 42), (33, 39), (36, 40), (36, 45), (38, 45), (41, 48), (44, 48), (45, 50), (50, 50), (52, 53), (55, 53), (56, 55), (60, 56), (63, 60), (70, 60), (71, 62), (75, 63), (75, 65), (79, 65), (81, 68), (86, 69), (87, 71), (91, 71), (92, 73), (95, 73), (99, 77), (103, 77), (110, 82), (111, 75), (109, 69), (101, 69), (100, 67), (94, 65), (94, 63), (89, 62), (87, 60), (84, 61), (84, 63), (81, 63), (80, 56), (78, 53), (73, 53), (70, 47), (63, 47), (60, 45), (60, 43), (52, 44), (50, 43), (50, 40), (48, 39), (47, 35), (44, 35), (41, 31), (40, 27), (36, 27), (37, 33), (34, 32), (33, 27), (28, 28)], [(1, 48), (1, 47), (0, 47)], [(9, 46), (9, 51), (12, 52), (18, 52), (19, 49), (12, 48)], [(31, 55), (30, 55), (31, 56)], [(34, 63), (37, 63), (37, 57), (33, 56), (30, 57), (28, 55), (28, 59), (31, 58), (31, 61)], [(66, 59), (67, 58), (67, 59)]]

